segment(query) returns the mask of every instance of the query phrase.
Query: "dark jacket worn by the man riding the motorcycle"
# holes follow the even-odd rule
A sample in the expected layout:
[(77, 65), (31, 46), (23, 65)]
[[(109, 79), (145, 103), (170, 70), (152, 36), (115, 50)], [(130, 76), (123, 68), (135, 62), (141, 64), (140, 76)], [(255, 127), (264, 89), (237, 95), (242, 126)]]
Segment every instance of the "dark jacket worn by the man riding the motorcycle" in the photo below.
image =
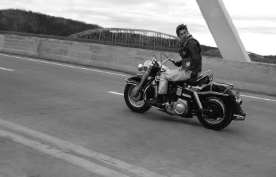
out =
[(182, 69), (192, 71), (192, 75), (197, 76), (197, 74), (201, 72), (201, 47), (197, 39), (194, 39), (192, 35), (190, 35), (184, 43), (181, 43), (179, 55), (182, 60), (177, 61), (175, 65), (179, 67), (182, 65)]

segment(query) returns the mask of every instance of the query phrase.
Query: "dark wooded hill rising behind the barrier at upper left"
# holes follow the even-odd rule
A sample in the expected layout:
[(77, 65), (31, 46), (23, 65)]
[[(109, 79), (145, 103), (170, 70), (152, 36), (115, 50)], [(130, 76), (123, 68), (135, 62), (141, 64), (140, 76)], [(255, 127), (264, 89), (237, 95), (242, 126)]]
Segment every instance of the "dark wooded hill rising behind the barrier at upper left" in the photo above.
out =
[(0, 10), (0, 30), (28, 32), (33, 34), (49, 34), (68, 37), (84, 30), (101, 28), (96, 24), (54, 17), (39, 12), (20, 9)]

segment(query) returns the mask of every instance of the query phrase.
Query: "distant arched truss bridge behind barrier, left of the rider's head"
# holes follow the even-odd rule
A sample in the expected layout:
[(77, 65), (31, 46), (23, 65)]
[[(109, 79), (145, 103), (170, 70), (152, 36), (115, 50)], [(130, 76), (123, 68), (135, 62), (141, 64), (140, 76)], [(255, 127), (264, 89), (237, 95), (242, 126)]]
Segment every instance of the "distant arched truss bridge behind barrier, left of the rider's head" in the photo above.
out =
[(103, 28), (88, 30), (72, 34), (70, 37), (91, 39), (93, 41), (120, 43), (130, 47), (136, 45), (137, 47), (147, 47), (152, 49), (178, 49), (180, 45), (180, 39), (170, 34), (127, 28)]

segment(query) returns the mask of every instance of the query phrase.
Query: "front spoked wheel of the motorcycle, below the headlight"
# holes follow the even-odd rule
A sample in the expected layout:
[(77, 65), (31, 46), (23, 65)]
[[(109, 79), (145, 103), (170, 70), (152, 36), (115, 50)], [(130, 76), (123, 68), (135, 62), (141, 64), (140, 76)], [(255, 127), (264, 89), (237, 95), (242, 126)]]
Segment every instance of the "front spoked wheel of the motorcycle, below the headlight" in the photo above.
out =
[(136, 85), (127, 84), (124, 91), (124, 98), (126, 101), (126, 105), (133, 112), (146, 112), (150, 109), (150, 105), (144, 102), (143, 94), (138, 94), (137, 97), (133, 96), (134, 88)]

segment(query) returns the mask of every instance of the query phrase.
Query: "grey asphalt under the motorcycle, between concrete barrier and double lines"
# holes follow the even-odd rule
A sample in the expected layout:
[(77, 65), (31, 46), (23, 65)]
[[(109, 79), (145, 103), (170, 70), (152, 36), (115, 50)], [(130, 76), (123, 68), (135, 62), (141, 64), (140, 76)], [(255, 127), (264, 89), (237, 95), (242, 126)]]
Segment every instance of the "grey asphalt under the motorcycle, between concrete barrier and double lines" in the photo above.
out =
[(242, 92), (246, 120), (215, 132), (196, 118), (131, 112), (116, 94), (128, 74), (3, 54), (0, 67), (1, 120), (164, 176), (276, 175), (273, 96)]

